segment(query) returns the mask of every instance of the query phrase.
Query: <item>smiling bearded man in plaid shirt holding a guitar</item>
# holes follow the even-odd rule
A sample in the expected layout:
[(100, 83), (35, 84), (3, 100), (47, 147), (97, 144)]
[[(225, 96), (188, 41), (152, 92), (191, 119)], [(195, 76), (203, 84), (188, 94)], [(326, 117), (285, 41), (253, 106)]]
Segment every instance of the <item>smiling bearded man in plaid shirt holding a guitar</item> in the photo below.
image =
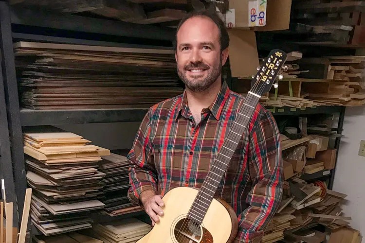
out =
[[(176, 34), (182, 95), (152, 106), (128, 154), (130, 201), (152, 220), (163, 214), (163, 195), (175, 187), (200, 188), (244, 98), (221, 79), (229, 36), (216, 15), (185, 17)], [(242, 56), (242, 58), (247, 58)], [(216, 196), (237, 212), (236, 242), (259, 242), (282, 195), (279, 132), (270, 112), (257, 105)]]

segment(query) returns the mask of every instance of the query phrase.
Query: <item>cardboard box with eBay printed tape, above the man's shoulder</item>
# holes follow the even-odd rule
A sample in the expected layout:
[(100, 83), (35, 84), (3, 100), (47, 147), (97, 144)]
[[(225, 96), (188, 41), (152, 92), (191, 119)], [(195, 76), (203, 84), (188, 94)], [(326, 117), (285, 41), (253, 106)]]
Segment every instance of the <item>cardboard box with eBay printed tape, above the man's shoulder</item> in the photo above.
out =
[(287, 30), (292, 0), (230, 0), (225, 13), (227, 28), (255, 31)]

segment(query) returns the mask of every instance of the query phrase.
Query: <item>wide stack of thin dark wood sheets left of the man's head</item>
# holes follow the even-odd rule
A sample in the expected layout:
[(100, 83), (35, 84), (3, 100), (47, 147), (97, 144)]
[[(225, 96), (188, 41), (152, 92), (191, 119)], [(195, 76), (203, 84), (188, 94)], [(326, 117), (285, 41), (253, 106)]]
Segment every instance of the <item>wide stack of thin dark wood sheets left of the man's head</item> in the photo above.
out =
[(21, 105), (148, 108), (183, 92), (173, 51), (17, 42)]

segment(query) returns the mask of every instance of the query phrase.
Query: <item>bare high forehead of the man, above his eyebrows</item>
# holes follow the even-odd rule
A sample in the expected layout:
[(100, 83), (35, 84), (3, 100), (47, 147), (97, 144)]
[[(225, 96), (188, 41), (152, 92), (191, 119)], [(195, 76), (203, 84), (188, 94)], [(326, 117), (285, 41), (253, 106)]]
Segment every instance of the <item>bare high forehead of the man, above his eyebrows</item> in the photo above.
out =
[(218, 26), (208, 17), (192, 17), (186, 20), (177, 33), (178, 43), (218, 42)]

